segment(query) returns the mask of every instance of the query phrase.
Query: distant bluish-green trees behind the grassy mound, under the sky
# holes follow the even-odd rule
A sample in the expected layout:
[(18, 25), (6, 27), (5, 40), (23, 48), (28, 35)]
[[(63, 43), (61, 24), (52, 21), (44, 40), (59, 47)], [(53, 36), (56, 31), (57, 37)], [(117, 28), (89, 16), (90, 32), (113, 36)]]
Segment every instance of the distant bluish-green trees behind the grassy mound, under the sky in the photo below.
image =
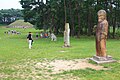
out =
[(22, 12), (20, 9), (1, 9), (0, 10), (0, 24), (10, 24), (17, 19), (22, 18)]

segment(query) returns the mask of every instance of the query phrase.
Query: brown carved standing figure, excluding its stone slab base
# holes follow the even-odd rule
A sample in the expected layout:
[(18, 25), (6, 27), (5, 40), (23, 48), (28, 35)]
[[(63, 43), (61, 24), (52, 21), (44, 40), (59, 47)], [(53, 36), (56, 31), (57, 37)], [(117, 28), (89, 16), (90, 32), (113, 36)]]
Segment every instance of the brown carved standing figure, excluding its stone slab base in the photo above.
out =
[(106, 39), (108, 34), (108, 22), (106, 11), (98, 11), (98, 25), (96, 28), (96, 56), (106, 57)]

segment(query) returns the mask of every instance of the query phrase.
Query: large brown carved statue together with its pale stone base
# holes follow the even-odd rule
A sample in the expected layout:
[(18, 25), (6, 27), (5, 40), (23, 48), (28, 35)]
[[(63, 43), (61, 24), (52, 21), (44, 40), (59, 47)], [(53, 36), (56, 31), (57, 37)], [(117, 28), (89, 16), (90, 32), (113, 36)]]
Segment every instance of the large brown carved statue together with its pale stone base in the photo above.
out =
[(96, 55), (90, 60), (97, 64), (116, 62), (112, 56), (106, 53), (106, 39), (108, 35), (108, 22), (106, 20), (106, 11), (98, 11), (98, 24), (96, 26)]

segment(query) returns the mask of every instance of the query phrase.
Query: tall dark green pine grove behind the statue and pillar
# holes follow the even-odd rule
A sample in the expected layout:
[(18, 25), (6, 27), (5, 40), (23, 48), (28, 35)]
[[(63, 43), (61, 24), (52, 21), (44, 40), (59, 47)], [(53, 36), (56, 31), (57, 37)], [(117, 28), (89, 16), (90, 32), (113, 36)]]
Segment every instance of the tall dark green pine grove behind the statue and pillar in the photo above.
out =
[(109, 36), (115, 38), (120, 27), (120, 0), (21, 0), (20, 4), (25, 21), (56, 34), (63, 33), (65, 23), (69, 23), (71, 36), (93, 35), (100, 9), (107, 12)]

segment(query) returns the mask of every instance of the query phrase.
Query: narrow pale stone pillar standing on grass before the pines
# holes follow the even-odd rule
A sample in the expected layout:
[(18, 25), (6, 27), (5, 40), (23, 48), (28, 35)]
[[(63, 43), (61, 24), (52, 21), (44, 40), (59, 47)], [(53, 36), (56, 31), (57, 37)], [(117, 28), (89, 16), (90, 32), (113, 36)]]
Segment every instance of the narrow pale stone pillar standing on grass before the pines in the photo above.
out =
[(70, 47), (70, 29), (69, 29), (69, 23), (65, 24), (64, 47)]

